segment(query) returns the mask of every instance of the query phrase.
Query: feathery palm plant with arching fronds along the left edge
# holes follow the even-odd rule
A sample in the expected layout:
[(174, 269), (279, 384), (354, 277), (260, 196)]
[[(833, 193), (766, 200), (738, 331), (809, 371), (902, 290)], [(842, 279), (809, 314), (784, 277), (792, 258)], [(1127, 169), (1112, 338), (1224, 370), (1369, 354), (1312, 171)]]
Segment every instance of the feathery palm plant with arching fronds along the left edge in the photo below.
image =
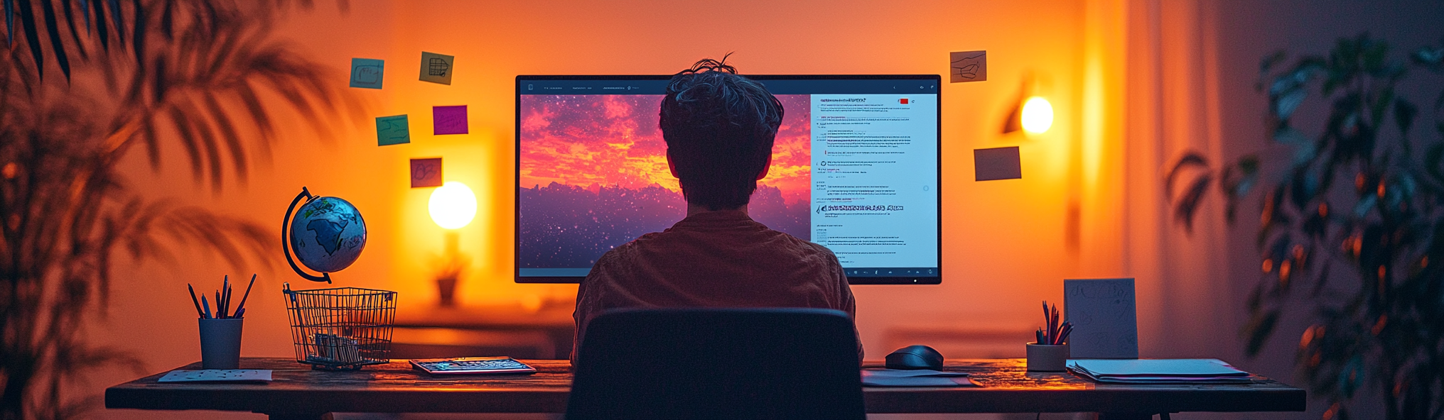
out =
[(97, 364), (134, 362), (84, 339), (117, 257), (168, 260), (170, 247), (201, 245), (238, 267), (273, 255), (271, 229), (147, 199), (118, 165), (142, 150), (159, 170), (162, 146), (178, 141), (195, 182), (219, 192), (227, 173), (244, 182), (253, 159), (269, 156), (279, 110), (355, 117), (341, 84), (270, 39), (284, 6), (4, 0), (0, 419), (75, 417), (95, 398), (62, 395), (66, 384)]

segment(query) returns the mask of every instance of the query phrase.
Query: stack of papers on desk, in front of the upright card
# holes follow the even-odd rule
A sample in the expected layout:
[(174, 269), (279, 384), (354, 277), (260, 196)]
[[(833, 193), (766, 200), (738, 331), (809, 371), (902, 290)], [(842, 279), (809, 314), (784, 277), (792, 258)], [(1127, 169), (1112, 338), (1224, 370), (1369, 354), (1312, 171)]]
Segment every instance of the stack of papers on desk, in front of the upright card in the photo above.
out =
[(1069, 369), (1102, 384), (1248, 384), (1220, 359), (1070, 359)]

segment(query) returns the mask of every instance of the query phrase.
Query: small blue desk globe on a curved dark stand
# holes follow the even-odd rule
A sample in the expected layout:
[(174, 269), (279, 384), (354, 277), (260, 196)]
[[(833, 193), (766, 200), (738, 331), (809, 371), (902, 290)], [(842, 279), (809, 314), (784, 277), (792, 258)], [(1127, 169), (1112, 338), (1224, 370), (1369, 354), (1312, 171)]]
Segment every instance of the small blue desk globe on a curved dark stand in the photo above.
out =
[[(305, 199), (297, 209), (296, 205)], [(292, 218), (295, 214), (295, 218)], [(286, 209), (282, 221), (282, 250), (296, 274), (312, 281), (331, 283), (331, 273), (349, 267), (365, 248), (365, 221), (351, 202), (334, 196), (312, 196), (306, 188)], [(306, 268), (321, 271), (313, 276), (302, 271), (292, 258), (300, 260)]]

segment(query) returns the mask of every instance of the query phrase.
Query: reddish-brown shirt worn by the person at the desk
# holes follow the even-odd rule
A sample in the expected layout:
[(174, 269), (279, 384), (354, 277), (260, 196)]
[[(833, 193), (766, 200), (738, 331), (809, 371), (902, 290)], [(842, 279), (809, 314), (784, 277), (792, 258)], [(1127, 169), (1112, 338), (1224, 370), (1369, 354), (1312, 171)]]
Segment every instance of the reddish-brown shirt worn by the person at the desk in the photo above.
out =
[(742, 211), (693, 214), (596, 260), (576, 290), (573, 364), (586, 323), (618, 307), (819, 307), (856, 315), (830, 250), (770, 229)]

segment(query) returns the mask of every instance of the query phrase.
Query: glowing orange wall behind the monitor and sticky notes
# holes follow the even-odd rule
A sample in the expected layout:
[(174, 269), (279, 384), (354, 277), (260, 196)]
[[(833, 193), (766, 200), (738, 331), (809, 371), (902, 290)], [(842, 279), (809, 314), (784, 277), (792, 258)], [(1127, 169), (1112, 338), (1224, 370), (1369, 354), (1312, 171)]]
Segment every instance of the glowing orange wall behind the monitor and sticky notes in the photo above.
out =
[[(736, 52), (731, 62), (745, 74), (944, 78), (947, 52), (989, 52), (989, 81), (943, 85), (947, 276), (941, 286), (853, 287), (869, 358), (891, 351), (881, 341), (897, 326), (1012, 329), (1021, 355), (1021, 344), (1037, 325), (1038, 302), (1061, 302), (1061, 279), (1121, 274), (1106, 257), (1116, 240), (1086, 234), (1082, 244), (1074, 240), (1070, 245), (1066, 234), (1069, 205), (1079, 201), (1083, 188), (1069, 182), (1070, 175), (1100, 172), (1097, 165), (1103, 162), (1090, 157), (1083, 165), (1076, 157), (1079, 147), (1089, 144), (1087, 156), (1097, 156), (1108, 141), (1099, 127), (1089, 128), (1093, 134), (1083, 141), (1082, 1), (367, 0), (351, 1), (347, 14), (326, 1), (321, 4), (312, 12), (292, 12), (280, 35), (328, 65), (338, 85), (347, 84), (351, 58), (386, 59), (384, 89), (348, 91), (368, 105), (368, 117), (409, 114), (412, 144), (377, 147), (370, 118), (335, 118), (331, 123), (341, 131), (329, 140), (292, 121), (286, 126), (296, 128), (244, 186), (212, 193), (192, 182), (179, 146), (165, 152), (160, 173), (152, 173), (143, 156), (131, 156), (129, 176), (153, 196), (243, 215), (267, 227), (280, 222), (300, 186), (345, 198), (365, 216), (370, 242), (355, 266), (334, 276), (338, 286), (397, 290), (403, 310), (435, 305), (432, 258), (440, 253), (443, 234), (426, 212), (430, 189), (407, 188), (407, 159), (445, 157), (446, 179), (468, 183), (479, 196), (477, 219), (462, 229), (461, 250), (475, 261), (461, 286), (464, 303), (567, 302), (576, 286), (514, 284), (510, 279), (513, 78), (671, 74), (699, 58), (726, 52)], [(422, 51), (456, 56), (452, 85), (416, 81)], [(1002, 136), (1008, 105), (1030, 72), (1040, 94), (1053, 102), (1054, 126), (1034, 139)], [(1087, 81), (1099, 82), (1096, 75)], [(432, 136), (430, 107), (459, 104), (469, 105), (471, 134)], [(973, 182), (972, 150), (1002, 146), (1022, 147), (1024, 178)], [(1093, 185), (1099, 178), (1089, 179)], [(1087, 193), (1084, 205), (1102, 205), (1096, 191)], [(195, 361), (196, 333), (192, 309), (183, 305), (183, 283), (205, 281), (198, 289), (209, 290), (221, 274), (260, 271), (263, 280), (248, 303), (254, 309), (247, 310), (243, 352), (292, 354), (280, 283), (297, 289), (313, 284), (302, 284), (308, 281), (289, 273), (280, 255), (244, 270), (225, 267), (204, 253), (185, 255), (175, 264), (121, 267), (130, 279), (116, 286), (111, 316), (95, 328), (97, 338), (142, 354), (150, 371)], [(116, 372), (97, 385), (127, 377)]]

